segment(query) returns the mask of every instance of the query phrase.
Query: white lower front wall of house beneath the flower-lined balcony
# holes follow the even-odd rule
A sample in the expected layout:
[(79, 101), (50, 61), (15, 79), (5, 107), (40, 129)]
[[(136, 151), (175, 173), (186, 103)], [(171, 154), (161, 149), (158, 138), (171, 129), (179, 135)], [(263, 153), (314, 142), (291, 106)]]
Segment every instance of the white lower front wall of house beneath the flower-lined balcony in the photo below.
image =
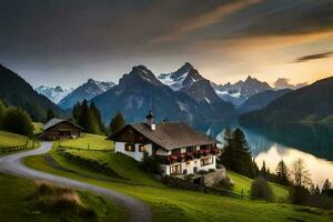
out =
[(165, 164), (162, 164), (161, 165), (161, 169), (163, 171), (164, 174), (167, 175), (170, 175), (171, 174), (171, 168), (173, 165), (181, 165), (181, 173), (184, 172), (184, 170), (186, 170), (186, 174), (194, 174), (194, 168), (196, 167), (198, 168), (198, 172), (200, 170), (205, 170), (205, 171), (209, 171), (210, 169), (216, 169), (216, 157), (215, 155), (211, 155), (213, 161), (212, 161), (212, 164), (209, 164), (209, 165), (201, 165), (201, 161), (200, 159), (195, 159), (195, 160), (191, 160), (191, 161), (186, 161), (186, 162), (181, 162), (181, 163), (174, 163), (174, 164), (171, 164), (171, 165), (165, 165)]

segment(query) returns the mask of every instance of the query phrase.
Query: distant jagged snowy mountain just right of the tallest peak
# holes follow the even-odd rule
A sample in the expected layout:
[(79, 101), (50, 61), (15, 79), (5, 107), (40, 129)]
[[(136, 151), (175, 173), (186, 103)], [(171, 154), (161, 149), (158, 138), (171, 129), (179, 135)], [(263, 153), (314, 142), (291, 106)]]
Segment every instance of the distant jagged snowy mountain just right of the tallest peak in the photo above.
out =
[(232, 102), (236, 107), (259, 92), (272, 90), (266, 82), (261, 82), (251, 75), (249, 75), (245, 81), (241, 80), (234, 84), (230, 82), (220, 85), (212, 83), (212, 87), (222, 100)]

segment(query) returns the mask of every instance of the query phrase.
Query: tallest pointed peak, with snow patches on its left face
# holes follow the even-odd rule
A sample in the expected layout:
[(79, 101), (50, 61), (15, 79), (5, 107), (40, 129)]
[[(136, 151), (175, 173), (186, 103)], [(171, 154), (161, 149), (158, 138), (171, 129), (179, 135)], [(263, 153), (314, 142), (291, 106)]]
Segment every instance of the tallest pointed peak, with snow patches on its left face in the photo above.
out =
[(233, 111), (233, 105), (218, 97), (211, 82), (204, 79), (192, 64), (186, 62), (175, 72), (160, 74), (159, 80), (169, 85), (173, 91), (184, 92), (198, 103), (202, 109)]

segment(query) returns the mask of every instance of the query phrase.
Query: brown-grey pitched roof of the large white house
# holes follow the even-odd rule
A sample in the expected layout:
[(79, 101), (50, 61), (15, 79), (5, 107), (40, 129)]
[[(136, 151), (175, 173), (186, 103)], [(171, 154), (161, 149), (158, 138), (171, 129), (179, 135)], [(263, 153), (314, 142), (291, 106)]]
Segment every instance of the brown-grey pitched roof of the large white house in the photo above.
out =
[(133, 128), (147, 139), (165, 150), (220, 143), (216, 140), (193, 130), (184, 123), (161, 123), (157, 124), (155, 130), (151, 130), (145, 123), (129, 124), (110, 135), (109, 139), (113, 139), (128, 127)]

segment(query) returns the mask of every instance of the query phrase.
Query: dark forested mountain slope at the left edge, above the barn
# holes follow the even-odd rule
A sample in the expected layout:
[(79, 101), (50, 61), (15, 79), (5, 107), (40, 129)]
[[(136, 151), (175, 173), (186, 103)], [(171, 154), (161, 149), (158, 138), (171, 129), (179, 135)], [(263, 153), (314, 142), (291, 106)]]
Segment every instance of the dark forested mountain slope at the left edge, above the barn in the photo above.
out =
[(27, 110), (33, 120), (43, 120), (49, 109), (58, 115), (64, 114), (48, 98), (36, 92), (24, 79), (1, 64), (0, 99)]

